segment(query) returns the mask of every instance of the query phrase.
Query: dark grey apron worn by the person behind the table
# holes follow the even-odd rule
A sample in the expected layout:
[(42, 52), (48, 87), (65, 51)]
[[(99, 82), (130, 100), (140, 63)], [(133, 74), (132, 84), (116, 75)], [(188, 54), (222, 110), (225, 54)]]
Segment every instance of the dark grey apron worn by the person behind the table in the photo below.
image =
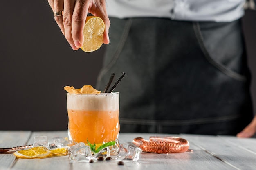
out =
[(121, 132), (236, 135), (252, 120), (240, 20), (110, 21), (97, 89), (126, 72), (115, 89)]

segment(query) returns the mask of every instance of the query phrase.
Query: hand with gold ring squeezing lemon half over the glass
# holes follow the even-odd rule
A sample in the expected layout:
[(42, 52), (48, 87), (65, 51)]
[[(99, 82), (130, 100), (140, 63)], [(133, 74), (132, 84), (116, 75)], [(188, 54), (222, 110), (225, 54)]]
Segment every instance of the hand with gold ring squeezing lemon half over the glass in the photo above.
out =
[(106, 11), (105, 0), (48, 0), (48, 3), (53, 12), (63, 11), (62, 16), (56, 16), (54, 19), (73, 50), (77, 50), (83, 45), (83, 27), (87, 13), (103, 20), (105, 23), (103, 43), (109, 43), (110, 20)]

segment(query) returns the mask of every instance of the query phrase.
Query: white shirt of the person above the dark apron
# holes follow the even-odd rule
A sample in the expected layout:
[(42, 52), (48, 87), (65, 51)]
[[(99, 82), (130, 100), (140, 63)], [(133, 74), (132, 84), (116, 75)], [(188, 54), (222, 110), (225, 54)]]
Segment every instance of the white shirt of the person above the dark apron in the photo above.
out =
[(106, 3), (110, 17), (229, 22), (243, 16), (245, 0), (106, 0)]

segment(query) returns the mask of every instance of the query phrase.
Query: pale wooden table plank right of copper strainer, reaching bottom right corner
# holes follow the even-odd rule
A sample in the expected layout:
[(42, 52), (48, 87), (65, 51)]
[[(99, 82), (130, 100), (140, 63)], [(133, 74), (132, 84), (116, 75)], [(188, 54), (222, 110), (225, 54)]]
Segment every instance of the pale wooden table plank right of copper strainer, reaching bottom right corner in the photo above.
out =
[[(238, 144), (227, 142), (220, 136), (207, 135), (182, 135), (188, 139), (191, 144), (198, 146), (205, 152), (213, 155), (217, 159), (225, 162), (229, 166), (236, 169), (255, 169), (256, 168), (256, 154), (241, 147)], [(233, 138), (233, 139), (232, 139)], [(229, 137), (229, 140), (239, 141), (236, 137)], [(256, 139), (251, 141), (256, 145)], [(243, 144), (243, 143), (240, 143)]]

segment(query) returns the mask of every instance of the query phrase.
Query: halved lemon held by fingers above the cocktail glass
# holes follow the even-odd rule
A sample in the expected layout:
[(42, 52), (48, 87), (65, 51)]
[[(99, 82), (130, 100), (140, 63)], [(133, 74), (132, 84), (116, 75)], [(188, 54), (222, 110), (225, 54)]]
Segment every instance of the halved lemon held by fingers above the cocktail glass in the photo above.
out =
[(100, 17), (88, 16), (83, 28), (83, 46), (81, 49), (85, 52), (98, 50), (103, 43), (103, 33), (105, 24)]

